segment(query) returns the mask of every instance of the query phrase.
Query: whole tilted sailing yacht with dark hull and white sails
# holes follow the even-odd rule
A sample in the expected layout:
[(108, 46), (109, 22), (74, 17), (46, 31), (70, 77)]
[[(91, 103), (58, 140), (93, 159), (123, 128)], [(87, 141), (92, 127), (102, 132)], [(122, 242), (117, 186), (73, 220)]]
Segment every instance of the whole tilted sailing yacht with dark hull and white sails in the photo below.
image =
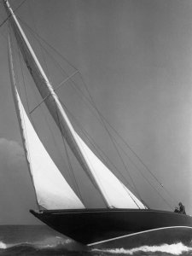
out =
[(103, 208), (87, 208), (51, 159), (20, 100), (9, 38), (9, 70), (26, 163), (44, 224), (86, 247), (130, 248), (192, 239), (188, 215), (150, 209), (122, 183), (75, 131), (8, 0), (3, 5), (15, 39), (42, 101), (59, 127), (85, 175), (101, 195)]

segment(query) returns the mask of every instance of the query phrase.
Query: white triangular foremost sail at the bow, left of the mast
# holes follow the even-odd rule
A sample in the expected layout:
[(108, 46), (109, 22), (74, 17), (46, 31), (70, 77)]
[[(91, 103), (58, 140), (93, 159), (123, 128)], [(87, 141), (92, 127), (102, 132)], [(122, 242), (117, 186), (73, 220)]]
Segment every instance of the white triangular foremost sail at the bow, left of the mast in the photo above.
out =
[(13, 60), (9, 44), (9, 67), (15, 108), (20, 123), (21, 137), (26, 149), (26, 161), (30, 168), (33, 185), (36, 190), (38, 205), (45, 209), (84, 208), (79, 197), (73, 192), (61, 172), (55, 166), (20, 101), (16, 89)]

